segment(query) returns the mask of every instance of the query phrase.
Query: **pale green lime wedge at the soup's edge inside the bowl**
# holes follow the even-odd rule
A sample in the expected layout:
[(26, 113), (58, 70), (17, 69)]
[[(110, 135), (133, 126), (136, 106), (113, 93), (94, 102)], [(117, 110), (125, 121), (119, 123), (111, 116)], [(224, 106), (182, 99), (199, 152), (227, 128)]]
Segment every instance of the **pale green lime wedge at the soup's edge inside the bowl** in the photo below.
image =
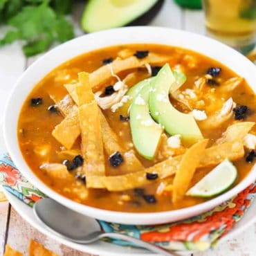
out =
[(237, 179), (237, 168), (228, 159), (217, 165), (211, 172), (190, 188), (187, 196), (210, 197), (228, 190)]

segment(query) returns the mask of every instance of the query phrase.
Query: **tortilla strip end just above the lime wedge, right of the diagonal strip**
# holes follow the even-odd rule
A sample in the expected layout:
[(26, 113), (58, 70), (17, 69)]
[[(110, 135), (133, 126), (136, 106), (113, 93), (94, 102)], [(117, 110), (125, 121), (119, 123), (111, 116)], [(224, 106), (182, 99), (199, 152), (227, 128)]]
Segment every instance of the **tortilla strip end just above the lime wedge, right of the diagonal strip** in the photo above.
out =
[(244, 156), (244, 144), (241, 140), (235, 140), (205, 149), (199, 167), (218, 165), (226, 158), (235, 161)]

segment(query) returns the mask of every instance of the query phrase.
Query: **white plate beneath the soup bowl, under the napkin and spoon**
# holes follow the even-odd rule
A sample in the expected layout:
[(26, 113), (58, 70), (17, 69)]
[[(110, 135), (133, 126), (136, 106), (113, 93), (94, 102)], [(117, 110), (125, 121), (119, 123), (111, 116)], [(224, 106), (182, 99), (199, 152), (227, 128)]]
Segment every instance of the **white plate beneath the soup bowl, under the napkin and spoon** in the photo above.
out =
[[(84, 253), (92, 253), (93, 255), (102, 256), (156, 256), (156, 254), (148, 253), (146, 250), (143, 249), (116, 246), (115, 244), (110, 244), (104, 241), (98, 241), (90, 245), (81, 245), (75, 244), (62, 237), (58, 237), (57, 235), (55, 235), (55, 233), (45, 228), (45, 226), (43, 226), (42, 223), (39, 223), (39, 221), (37, 221), (33, 214), (32, 208), (30, 208), (28, 205), (17, 199), (17, 197), (13, 196), (9, 192), (6, 192), (6, 190), (4, 190), (4, 192), (6, 194), (6, 197), (12, 204), (12, 207), (15, 208), (15, 210), (21, 215), (21, 217), (28, 221), (28, 223), (30, 223), (31, 226), (37, 228), (37, 230), (42, 232), (44, 235), (47, 235), (48, 237), (55, 239), (61, 244), (65, 244), (66, 246), (74, 248), (75, 250), (80, 250)], [(232, 239), (232, 237), (239, 235), (240, 232), (246, 230), (246, 228), (255, 223), (255, 212), (256, 203), (253, 203), (246, 212), (246, 214), (244, 215), (243, 219), (241, 219), (241, 221), (239, 221), (239, 223), (237, 223), (237, 225), (235, 225), (235, 227), (232, 228), (230, 232), (228, 232), (228, 235), (226, 235), (219, 241), (219, 244), (222, 244), (228, 239)], [(192, 252), (184, 252), (182, 253), (182, 255), (190, 255), (191, 253)]]

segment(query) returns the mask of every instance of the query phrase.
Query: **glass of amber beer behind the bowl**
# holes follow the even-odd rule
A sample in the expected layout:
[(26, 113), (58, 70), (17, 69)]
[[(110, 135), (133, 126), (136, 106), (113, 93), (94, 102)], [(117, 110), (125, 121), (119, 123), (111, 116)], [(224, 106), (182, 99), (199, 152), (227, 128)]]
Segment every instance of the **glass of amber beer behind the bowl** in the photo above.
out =
[(203, 0), (208, 34), (247, 54), (255, 47), (256, 0)]

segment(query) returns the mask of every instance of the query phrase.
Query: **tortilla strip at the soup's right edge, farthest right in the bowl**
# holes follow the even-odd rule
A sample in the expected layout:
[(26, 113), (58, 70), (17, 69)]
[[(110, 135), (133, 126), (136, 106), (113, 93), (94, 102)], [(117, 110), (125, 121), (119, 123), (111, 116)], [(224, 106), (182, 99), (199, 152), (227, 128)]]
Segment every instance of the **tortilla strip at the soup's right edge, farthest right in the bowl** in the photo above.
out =
[(248, 134), (250, 129), (253, 128), (255, 122), (237, 122), (234, 125), (230, 125), (228, 129), (223, 133), (221, 138), (219, 138), (214, 145), (219, 145), (221, 143), (227, 143), (233, 140), (243, 140), (244, 136)]

